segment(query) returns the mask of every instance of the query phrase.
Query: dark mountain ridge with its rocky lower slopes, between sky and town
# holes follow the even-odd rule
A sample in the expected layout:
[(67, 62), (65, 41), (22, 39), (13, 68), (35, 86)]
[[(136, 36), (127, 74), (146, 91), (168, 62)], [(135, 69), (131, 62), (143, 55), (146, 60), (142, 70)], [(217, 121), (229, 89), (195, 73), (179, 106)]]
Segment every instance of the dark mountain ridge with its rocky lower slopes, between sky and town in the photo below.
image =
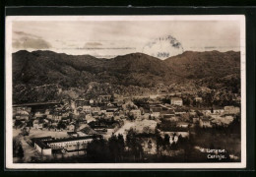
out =
[[(54, 100), (59, 89), (87, 92), (91, 83), (103, 87), (97, 86), (95, 93), (141, 94), (156, 91), (162, 85), (169, 88), (172, 84), (189, 83), (212, 89), (238, 88), (239, 57), (239, 52), (214, 51), (184, 52), (166, 60), (143, 53), (98, 59), (91, 55), (23, 50), (13, 53), (13, 98), (17, 103)], [(223, 79), (226, 76), (233, 76), (232, 81)]]

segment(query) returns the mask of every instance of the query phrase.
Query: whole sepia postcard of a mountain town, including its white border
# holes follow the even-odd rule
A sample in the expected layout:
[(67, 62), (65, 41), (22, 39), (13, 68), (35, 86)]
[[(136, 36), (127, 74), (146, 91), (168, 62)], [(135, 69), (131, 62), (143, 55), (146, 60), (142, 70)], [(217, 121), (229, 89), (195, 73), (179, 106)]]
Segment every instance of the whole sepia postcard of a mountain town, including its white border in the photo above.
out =
[(6, 18), (6, 166), (246, 167), (245, 17)]

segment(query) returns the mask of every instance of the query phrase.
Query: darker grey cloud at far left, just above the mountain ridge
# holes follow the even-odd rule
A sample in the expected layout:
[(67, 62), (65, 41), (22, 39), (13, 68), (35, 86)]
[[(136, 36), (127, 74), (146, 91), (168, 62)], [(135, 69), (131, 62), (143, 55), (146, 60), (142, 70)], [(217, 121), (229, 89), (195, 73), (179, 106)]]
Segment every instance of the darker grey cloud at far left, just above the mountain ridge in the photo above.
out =
[(51, 47), (51, 44), (41, 38), (22, 37), (20, 40), (15, 40), (13, 46), (23, 49), (47, 49)]

